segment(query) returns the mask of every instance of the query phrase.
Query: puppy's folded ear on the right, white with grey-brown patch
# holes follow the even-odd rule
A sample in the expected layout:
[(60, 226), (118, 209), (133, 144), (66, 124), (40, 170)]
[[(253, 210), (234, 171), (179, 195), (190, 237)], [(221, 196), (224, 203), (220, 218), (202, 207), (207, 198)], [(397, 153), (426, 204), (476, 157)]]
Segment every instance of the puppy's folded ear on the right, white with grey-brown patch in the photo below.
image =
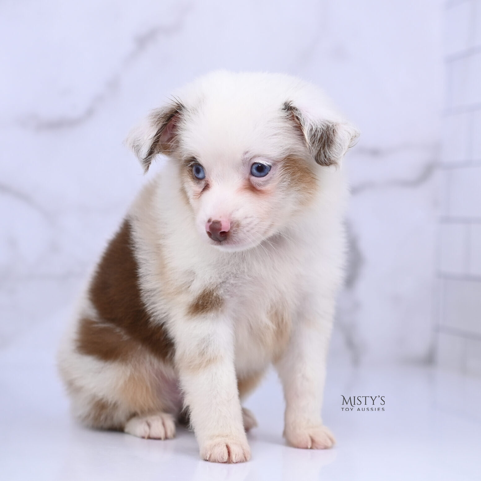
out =
[(309, 153), (319, 165), (339, 165), (347, 149), (359, 137), (359, 131), (351, 124), (310, 118), (292, 101), (284, 102), (282, 110), (295, 123), (304, 137)]

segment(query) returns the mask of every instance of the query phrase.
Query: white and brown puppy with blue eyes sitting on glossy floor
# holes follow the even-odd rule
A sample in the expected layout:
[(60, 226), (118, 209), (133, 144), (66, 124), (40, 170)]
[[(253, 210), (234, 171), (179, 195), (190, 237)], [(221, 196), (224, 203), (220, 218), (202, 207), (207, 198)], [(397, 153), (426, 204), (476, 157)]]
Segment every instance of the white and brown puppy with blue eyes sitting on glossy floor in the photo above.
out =
[(188, 417), (203, 459), (249, 460), (241, 401), (272, 363), (284, 436), (329, 448), (326, 354), (344, 263), (340, 164), (357, 130), (312, 85), (215, 72), (127, 143), (147, 172), (60, 352), (73, 413), (168, 439)]

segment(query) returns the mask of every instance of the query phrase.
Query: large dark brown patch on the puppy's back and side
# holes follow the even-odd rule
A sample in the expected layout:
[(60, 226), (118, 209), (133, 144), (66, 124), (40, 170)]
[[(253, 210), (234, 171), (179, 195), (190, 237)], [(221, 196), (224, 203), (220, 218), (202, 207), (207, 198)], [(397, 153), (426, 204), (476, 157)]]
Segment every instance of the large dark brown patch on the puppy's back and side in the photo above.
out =
[(139, 267), (126, 219), (103, 254), (89, 289), (101, 322), (83, 319), (77, 338), (82, 354), (102, 360), (125, 359), (139, 346), (171, 361), (174, 344), (162, 324), (152, 322), (140, 297)]

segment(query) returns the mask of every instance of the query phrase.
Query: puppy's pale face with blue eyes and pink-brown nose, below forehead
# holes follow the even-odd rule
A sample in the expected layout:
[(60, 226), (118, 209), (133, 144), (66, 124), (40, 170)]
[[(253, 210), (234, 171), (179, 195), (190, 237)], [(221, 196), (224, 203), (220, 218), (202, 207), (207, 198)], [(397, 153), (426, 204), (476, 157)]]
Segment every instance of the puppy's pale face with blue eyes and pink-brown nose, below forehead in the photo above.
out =
[(203, 240), (220, 249), (241, 250), (281, 232), (311, 202), (317, 186), (312, 167), (295, 153), (198, 153), (181, 162), (181, 188)]

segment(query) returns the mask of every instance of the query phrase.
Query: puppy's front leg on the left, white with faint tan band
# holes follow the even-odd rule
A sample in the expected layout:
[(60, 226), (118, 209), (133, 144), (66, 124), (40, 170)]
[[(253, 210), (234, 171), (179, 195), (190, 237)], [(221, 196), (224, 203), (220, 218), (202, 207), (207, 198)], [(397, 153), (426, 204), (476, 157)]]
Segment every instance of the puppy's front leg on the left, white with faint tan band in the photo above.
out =
[(218, 463), (248, 461), (230, 321), (195, 317), (183, 321), (177, 334), (177, 367), (201, 456)]

